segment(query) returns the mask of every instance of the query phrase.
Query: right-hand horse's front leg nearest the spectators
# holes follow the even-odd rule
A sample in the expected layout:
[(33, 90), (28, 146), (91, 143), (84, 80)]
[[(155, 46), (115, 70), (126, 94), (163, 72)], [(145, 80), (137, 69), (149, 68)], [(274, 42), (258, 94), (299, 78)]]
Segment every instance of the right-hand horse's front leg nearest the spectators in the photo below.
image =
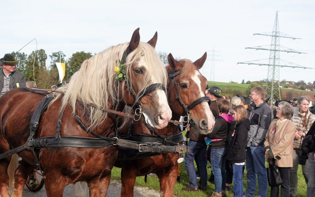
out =
[(166, 174), (157, 173), (157, 177), (160, 180), (161, 196), (171, 197), (174, 196), (174, 187), (178, 174), (177, 162)]

